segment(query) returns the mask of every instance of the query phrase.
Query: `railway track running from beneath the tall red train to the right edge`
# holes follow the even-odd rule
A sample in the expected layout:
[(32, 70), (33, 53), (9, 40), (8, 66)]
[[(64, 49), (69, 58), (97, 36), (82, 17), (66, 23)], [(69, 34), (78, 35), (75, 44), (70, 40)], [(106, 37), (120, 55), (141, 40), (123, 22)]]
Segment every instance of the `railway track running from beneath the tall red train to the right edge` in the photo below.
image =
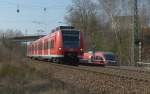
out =
[[(37, 62), (37, 61), (36, 61)], [(150, 82), (150, 74), (149, 72), (139, 72), (139, 70), (131, 70), (131, 69), (123, 69), (123, 68), (116, 68), (116, 67), (91, 67), (91, 66), (83, 66), (79, 65), (77, 66), (70, 66), (70, 65), (63, 65), (63, 64), (56, 64), (56, 63), (49, 63), (40, 61), (40, 63), (47, 63), (58, 67), (64, 67), (67, 69), (73, 69), (73, 70), (80, 70), (80, 71), (86, 71), (90, 73), (94, 73), (97, 75), (106, 75), (110, 77), (117, 77), (121, 79), (126, 80), (135, 80), (135, 81), (142, 81), (142, 82)]]

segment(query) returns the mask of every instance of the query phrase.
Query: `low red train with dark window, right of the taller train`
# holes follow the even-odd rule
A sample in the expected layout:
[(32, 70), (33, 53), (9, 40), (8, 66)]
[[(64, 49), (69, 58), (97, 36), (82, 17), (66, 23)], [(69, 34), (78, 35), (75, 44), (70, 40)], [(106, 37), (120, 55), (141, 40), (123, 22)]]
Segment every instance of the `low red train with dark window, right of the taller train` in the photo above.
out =
[(89, 51), (84, 53), (81, 63), (93, 65), (117, 65), (116, 55), (112, 52)]

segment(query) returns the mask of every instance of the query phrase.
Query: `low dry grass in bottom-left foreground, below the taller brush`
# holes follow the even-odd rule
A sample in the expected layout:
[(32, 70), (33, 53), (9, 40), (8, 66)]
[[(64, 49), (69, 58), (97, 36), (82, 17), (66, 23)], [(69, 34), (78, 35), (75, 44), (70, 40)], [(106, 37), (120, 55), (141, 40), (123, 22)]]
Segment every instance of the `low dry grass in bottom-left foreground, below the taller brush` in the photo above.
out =
[(30, 64), (0, 63), (0, 66), (0, 94), (87, 94)]

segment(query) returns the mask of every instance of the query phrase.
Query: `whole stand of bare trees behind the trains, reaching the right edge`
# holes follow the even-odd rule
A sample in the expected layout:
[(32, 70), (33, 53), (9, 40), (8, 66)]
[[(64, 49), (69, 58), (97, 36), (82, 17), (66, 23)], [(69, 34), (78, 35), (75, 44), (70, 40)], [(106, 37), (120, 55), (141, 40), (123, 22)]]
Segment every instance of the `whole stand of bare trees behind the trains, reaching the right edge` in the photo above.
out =
[[(148, 26), (150, 2), (138, 2), (141, 27)], [(85, 47), (95, 42), (97, 48), (116, 52), (121, 63), (133, 65), (134, 5), (135, 0), (74, 0), (66, 20), (84, 31)]]

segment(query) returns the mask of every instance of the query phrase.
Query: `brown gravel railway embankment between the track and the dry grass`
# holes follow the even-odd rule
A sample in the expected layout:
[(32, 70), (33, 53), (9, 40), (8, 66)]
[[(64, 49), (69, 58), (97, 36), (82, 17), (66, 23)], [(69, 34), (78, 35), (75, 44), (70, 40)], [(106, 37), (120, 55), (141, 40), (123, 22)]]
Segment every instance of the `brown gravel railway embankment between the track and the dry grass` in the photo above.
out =
[[(85, 89), (90, 94), (149, 94), (150, 93), (149, 81), (136, 80), (132, 78), (130, 79), (118, 75), (116, 76), (114, 74), (86, 71), (78, 67), (76, 68), (70, 66), (66, 67), (66, 65), (58, 65), (58, 64), (51, 64), (45, 62), (40, 62), (40, 63), (36, 62), (33, 65), (39, 70), (46, 70), (47, 73), (52, 72), (53, 77), (55, 77), (56, 79), (60, 79), (65, 83), (72, 84), (81, 89)], [(122, 72), (120, 72), (120, 75), (121, 73)]]

